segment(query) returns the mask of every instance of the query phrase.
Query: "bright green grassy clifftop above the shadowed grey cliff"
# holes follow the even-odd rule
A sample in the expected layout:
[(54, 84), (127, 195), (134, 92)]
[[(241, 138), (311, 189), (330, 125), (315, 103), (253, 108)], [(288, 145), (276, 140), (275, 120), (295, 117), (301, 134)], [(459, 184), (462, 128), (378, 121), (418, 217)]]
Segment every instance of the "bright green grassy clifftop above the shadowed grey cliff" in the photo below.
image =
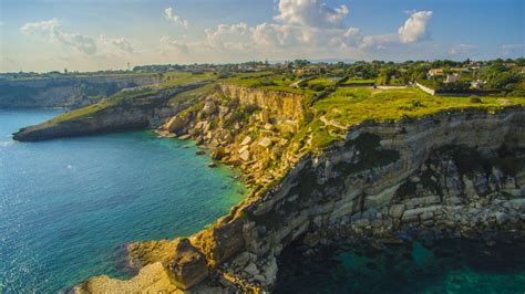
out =
[[(466, 108), (494, 112), (511, 105), (525, 105), (525, 97), (472, 99), (471, 97), (431, 96), (418, 88), (341, 87), (313, 104), (316, 116), (296, 135), (295, 140), (305, 140), (307, 134), (310, 133), (312, 148), (323, 148), (343, 138), (344, 129), (366, 120), (418, 118), (443, 111)], [(336, 126), (342, 126), (344, 129)]]

